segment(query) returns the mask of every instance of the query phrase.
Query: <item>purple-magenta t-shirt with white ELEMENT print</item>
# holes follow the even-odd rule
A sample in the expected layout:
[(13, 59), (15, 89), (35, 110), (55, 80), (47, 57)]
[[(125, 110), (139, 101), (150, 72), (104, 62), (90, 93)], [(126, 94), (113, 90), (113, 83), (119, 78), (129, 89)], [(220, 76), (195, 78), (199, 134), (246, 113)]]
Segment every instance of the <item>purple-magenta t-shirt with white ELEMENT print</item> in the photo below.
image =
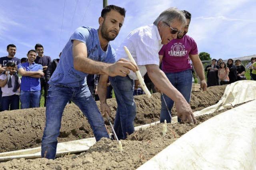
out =
[(198, 54), (196, 42), (190, 36), (185, 35), (182, 39), (173, 39), (168, 44), (163, 45), (159, 51), (159, 55), (163, 55), (163, 72), (181, 72), (192, 69), (189, 55), (196, 54)]

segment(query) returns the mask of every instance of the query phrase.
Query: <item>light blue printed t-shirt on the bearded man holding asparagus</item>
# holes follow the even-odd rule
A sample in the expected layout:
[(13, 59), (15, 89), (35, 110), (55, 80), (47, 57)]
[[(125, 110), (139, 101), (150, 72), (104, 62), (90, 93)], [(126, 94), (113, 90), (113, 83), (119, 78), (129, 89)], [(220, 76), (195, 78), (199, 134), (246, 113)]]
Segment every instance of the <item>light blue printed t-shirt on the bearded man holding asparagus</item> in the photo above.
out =
[(108, 43), (108, 49), (106, 51), (101, 49), (98, 38), (98, 29), (93, 29), (91, 27), (79, 27), (71, 35), (68, 43), (62, 50), (60, 62), (48, 82), (50, 85), (66, 87), (79, 87), (86, 85), (86, 76), (88, 74), (74, 69), (72, 52), (73, 40), (79, 40), (86, 44), (89, 59), (104, 63), (116, 62), (116, 53), (110, 43)]

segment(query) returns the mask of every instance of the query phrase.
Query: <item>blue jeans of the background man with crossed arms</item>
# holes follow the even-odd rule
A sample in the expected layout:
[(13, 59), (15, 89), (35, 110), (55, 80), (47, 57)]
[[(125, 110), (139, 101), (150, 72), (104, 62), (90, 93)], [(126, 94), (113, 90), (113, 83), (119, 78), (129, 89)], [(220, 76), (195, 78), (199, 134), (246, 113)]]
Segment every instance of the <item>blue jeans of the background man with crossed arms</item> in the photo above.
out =
[(41, 92), (38, 91), (23, 91), (20, 90), (21, 108), (32, 108), (40, 106)]

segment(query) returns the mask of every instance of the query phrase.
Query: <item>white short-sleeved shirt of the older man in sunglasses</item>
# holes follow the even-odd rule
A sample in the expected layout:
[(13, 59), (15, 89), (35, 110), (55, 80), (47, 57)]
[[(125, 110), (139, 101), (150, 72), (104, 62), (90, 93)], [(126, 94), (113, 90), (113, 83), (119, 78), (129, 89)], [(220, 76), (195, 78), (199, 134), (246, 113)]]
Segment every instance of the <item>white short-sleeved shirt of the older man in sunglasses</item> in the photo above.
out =
[[(158, 52), (162, 48), (162, 40), (156, 25), (146, 25), (131, 31), (124, 39), (124, 42), (116, 49), (116, 59), (128, 59), (124, 46), (128, 48), (136, 64), (139, 67), (140, 73), (144, 76), (147, 72), (147, 64), (159, 65)], [(129, 77), (137, 80), (134, 72), (130, 71)]]

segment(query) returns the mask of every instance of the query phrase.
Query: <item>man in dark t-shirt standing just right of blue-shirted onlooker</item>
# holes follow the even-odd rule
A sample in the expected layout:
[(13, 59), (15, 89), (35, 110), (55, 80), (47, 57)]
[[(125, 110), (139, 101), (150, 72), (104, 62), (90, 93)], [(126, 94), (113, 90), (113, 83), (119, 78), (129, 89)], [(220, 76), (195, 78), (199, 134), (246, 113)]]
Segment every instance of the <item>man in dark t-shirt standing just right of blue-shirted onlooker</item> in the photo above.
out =
[[(43, 66), (44, 74), (46, 74), (47, 67), (52, 61), (52, 59), (51, 57), (44, 55), (44, 47), (41, 44), (36, 44), (35, 50), (36, 50), (36, 53), (38, 54), (38, 56), (36, 56), (35, 63), (41, 64)], [(41, 93), (42, 93), (42, 90), (44, 89), (44, 106), (46, 106), (48, 84), (45, 76), (42, 76), (40, 78), (40, 84), (41, 84)]]

